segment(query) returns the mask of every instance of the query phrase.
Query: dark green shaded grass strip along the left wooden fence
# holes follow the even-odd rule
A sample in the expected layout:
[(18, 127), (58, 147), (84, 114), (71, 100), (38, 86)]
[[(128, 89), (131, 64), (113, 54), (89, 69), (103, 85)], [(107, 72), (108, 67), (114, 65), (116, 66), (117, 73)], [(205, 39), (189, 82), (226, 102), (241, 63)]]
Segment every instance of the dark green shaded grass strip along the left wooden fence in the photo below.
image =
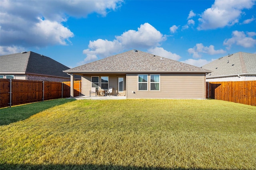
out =
[(50, 107), (72, 102), (75, 99), (55, 99), (44, 102), (24, 104), (20, 106), (6, 107), (0, 109), (0, 125), (9, 125), (16, 121), (27, 119), (28, 117), (49, 109)]

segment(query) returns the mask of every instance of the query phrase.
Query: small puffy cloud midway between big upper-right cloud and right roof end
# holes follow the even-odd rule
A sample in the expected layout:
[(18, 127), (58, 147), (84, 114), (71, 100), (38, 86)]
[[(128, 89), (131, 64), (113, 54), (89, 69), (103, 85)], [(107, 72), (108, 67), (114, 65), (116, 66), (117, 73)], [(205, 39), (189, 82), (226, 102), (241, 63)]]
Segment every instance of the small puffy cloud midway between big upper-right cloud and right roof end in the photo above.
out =
[(210, 45), (209, 47), (205, 47), (202, 43), (198, 43), (198, 44), (196, 44), (195, 47), (188, 49), (188, 53), (193, 54), (194, 58), (200, 58), (201, 53), (215, 55), (215, 54), (226, 53), (226, 51), (224, 51), (222, 49), (215, 50), (213, 45)]

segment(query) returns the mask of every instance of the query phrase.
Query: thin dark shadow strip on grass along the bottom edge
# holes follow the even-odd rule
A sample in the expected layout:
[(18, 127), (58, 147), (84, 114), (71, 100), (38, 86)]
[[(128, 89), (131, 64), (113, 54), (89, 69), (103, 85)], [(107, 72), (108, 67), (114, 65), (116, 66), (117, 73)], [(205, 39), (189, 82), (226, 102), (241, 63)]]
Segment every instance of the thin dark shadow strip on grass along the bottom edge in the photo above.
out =
[[(117, 166), (117, 165), (31, 165), (31, 164), (0, 164), (0, 170), (217, 170), (202, 168), (158, 168), (158, 167), (137, 167), (137, 166)], [(218, 169), (221, 170), (221, 169)], [(224, 169), (223, 169), (224, 170)]]

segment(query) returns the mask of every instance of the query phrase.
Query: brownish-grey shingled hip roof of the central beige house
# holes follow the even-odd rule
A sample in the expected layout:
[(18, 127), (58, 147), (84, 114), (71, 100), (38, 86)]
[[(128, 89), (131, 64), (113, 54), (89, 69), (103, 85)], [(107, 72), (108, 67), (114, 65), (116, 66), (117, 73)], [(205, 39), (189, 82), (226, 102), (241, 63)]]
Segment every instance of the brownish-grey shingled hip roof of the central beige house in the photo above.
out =
[(68, 73), (141, 73), (141, 72), (194, 72), (211, 71), (189, 64), (162, 58), (142, 51), (131, 50), (107, 57), (92, 63), (84, 64), (64, 72)]

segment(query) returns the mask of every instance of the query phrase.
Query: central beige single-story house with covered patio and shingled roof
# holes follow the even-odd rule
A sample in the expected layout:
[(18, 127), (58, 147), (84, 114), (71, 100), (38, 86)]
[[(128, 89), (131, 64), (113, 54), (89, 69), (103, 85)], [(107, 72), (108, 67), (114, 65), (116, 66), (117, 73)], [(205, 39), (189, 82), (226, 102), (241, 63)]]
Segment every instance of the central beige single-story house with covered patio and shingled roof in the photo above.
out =
[(205, 75), (211, 71), (131, 50), (64, 72), (72, 75), (71, 84), (75, 74), (82, 76), (82, 94), (86, 96), (91, 87), (112, 87), (113, 95), (126, 98), (205, 99)]

